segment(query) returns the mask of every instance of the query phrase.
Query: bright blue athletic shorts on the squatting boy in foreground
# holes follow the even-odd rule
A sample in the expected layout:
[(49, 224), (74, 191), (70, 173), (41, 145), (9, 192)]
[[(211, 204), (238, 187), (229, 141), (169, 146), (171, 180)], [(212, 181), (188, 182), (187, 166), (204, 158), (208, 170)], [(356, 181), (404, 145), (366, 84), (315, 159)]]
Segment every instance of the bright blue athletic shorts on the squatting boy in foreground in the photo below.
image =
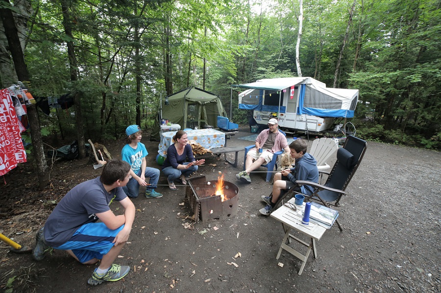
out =
[(94, 258), (102, 259), (102, 256), (114, 247), (113, 240), (123, 227), (124, 225), (116, 230), (111, 230), (104, 223), (82, 225), (68, 242), (54, 248), (72, 250), (80, 263), (85, 263)]

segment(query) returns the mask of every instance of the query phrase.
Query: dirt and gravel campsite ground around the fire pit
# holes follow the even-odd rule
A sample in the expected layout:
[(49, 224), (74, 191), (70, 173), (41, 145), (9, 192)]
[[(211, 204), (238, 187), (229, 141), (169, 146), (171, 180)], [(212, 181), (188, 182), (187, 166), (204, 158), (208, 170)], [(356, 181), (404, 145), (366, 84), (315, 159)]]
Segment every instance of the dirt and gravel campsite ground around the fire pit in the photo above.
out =
[[(252, 144), (238, 139), (246, 135), (244, 129), (228, 145)], [(143, 142), (150, 152), (148, 164), (157, 166), (158, 143)], [(106, 147), (119, 156), (122, 144)], [(214, 157), (198, 172), (216, 180), (221, 171), (225, 180), (238, 185), (240, 207), (235, 217), (186, 229), (185, 223), (192, 222), (182, 218), (190, 213), (179, 205), (184, 189), (158, 188), (163, 198), (140, 196), (133, 201), (135, 223), (117, 259), (131, 267), (122, 281), (92, 288), (86, 281), (94, 267), (80, 265), (65, 252), (55, 251), (34, 262), (29, 254), (13, 254), (1, 245), (0, 291), (17, 276), (13, 292), (440, 292), (440, 162), (439, 152), (369, 142), (339, 208), (343, 232), (336, 226), (325, 232), (317, 243), (318, 258), (311, 254), (300, 276), (300, 261), (294, 256), (283, 252), (275, 259), (283, 238), (280, 223), (258, 213), (263, 206), (260, 196), (271, 190), (265, 173), (253, 174), (251, 184), (235, 178), (242, 170), (242, 152), (238, 168)], [(43, 193), (35, 191), (32, 172), (25, 165), (5, 176), (7, 184), (0, 186), (0, 229), (33, 247), (35, 231), (53, 208), (50, 201), (98, 176), (100, 170), (93, 170), (88, 159), (56, 162), (52, 185)], [(160, 183), (167, 181), (161, 178)], [(112, 205), (121, 212), (117, 207)], [(238, 252), (241, 257), (234, 258)]]

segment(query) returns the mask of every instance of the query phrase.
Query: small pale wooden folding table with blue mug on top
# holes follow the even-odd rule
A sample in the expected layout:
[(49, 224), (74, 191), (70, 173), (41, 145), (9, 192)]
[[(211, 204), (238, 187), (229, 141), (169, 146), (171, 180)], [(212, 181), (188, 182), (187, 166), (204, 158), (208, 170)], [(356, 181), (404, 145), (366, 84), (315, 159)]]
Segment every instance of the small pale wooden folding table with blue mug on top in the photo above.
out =
[[(295, 199), (292, 198), (291, 200), (289, 200), (289, 203), (292, 203), (294, 205), (294, 200)], [(283, 238), (282, 244), (280, 245), (280, 249), (277, 253), (276, 259), (279, 259), (280, 254), (282, 253), (282, 249), (288, 251), (302, 261), (302, 265), (300, 267), (300, 270), (298, 271), (298, 274), (301, 275), (303, 269), (305, 268), (305, 264), (308, 260), (309, 254), (311, 253), (311, 250), (313, 250), (314, 257), (317, 258), (316, 240), (320, 240), (321, 236), (323, 236), (324, 232), (326, 231), (326, 228), (316, 223), (312, 223), (311, 221), (309, 222), (309, 225), (302, 225), (302, 209), (305, 208), (305, 203), (303, 203), (303, 206), (296, 205), (296, 208), (297, 211), (294, 211), (294, 209), (292, 209), (290, 206), (282, 205), (277, 210), (273, 211), (270, 215), (277, 221), (282, 222), (283, 229), (285, 230), (285, 237)], [(294, 235), (290, 234), (291, 229), (305, 234), (308, 238), (311, 239), (311, 241), (309, 243), (306, 243), (294, 237)], [(300, 252), (289, 246), (293, 239), (308, 247), (305, 255), (301, 254)], [(287, 241), (289, 243), (287, 243)]]

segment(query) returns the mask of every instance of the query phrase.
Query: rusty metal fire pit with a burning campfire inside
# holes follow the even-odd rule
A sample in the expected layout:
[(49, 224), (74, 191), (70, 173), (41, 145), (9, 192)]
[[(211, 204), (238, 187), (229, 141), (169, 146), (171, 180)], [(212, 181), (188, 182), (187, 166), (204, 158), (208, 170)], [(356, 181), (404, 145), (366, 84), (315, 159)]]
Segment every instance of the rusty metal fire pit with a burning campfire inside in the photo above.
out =
[(239, 188), (223, 180), (206, 181), (205, 176), (187, 179), (185, 198), (195, 213), (195, 222), (201, 220), (225, 220), (237, 214), (239, 209)]

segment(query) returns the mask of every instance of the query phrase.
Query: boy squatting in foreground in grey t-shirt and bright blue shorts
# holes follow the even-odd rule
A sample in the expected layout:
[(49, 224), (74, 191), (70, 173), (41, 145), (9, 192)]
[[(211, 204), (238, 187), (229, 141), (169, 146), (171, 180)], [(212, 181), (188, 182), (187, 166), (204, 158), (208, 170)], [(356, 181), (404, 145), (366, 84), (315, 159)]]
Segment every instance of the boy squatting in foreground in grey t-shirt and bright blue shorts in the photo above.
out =
[[(130, 178), (129, 171), (127, 162), (113, 159), (104, 165), (100, 177), (73, 187), (37, 232), (33, 258), (42, 260), (50, 247), (66, 250), (85, 265), (101, 260), (89, 285), (122, 279), (130, 268), (113, 261), (128, 240), (135, 218), (135, 206), (122, 188)], [(123, 215), (110, 210), (114, 200), (125, 209)], [(96, 223), (98, 219), (101, 222)]]

